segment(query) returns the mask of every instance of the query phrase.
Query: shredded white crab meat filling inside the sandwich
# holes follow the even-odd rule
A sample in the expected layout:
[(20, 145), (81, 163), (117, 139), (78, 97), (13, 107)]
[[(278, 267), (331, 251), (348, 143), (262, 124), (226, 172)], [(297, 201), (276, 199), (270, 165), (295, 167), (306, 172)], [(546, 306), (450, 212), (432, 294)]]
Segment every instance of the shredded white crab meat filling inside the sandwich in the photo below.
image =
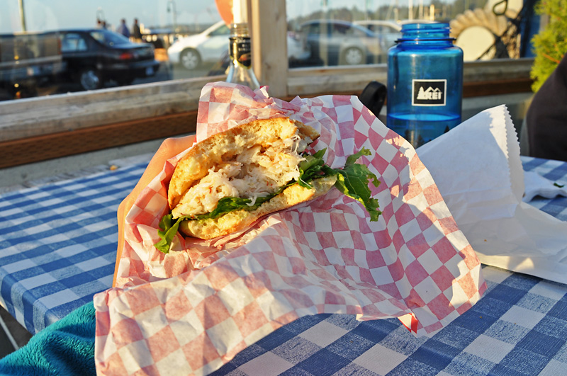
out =
[(289, 181), (298, 180), (300, 155), (310, 139), (298, 135), (277, 140), (264, 149), (254, 145), (230, 161), (215, 166), (208, 175), (192, 186), (173, 211), (174, 217), (212, 212), (218, 200), (225, 197), (249, 198), (254, 205), (258, 197), (276, 192)]

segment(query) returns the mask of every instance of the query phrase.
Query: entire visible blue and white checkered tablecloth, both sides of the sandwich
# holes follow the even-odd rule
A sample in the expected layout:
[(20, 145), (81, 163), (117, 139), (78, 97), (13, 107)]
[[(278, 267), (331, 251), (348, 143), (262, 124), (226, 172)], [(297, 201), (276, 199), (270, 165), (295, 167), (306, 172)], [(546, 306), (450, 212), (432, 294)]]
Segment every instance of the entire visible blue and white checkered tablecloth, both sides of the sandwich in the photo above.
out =
[[(567, 184), (567, 163), (522, 162)], [(0, 195), (0, 303), (32, 333), (111, 285), (116, 209), (144, 169)], [(532, 205), (567, 220), (567, 198)], [(483, 270), (483, 298), (432, 338), (415, 338), (397, 319), (318, 314), (262, 338), (215, 375), (567, 375), (567, 285)]]

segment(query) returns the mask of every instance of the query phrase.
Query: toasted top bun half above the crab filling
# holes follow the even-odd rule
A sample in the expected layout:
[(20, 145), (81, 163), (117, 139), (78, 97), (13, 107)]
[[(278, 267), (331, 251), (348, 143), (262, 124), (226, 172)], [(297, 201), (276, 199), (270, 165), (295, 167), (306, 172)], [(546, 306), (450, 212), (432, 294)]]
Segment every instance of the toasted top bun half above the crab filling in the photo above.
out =
[(313, 127), (299, 121), (271, 118), (237, 125), (195, 144), (175, 168), (167, 194), (169, 207), (174, 209), (186, 191), (206, 176), (213, 166), (229, 161), (254, 145), (268, 148), (276, 141), (296, 136), (310, 143), (319, 134)]

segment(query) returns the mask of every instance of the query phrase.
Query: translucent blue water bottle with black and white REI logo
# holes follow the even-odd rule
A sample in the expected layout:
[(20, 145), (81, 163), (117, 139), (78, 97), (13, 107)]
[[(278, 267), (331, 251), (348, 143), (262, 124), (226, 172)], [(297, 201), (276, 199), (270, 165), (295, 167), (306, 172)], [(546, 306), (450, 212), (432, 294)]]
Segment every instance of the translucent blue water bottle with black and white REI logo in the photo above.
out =
[(408, 23), (388, 51), (386, 125), (420, 147), (461, 123), (463, 51), (448, 23)]

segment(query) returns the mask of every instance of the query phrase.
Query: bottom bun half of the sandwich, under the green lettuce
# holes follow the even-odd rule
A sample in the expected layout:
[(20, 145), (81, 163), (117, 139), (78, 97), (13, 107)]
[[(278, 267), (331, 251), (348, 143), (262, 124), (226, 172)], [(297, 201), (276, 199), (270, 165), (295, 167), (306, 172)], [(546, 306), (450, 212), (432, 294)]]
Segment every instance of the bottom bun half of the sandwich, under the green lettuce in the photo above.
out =
[(260, 205), (257, 209), (235, 210), (215, 219), (187, 220), (181, 222), (179, 230), (188, 237), (213, 239), (233, 232), (241, 231), (259, 220), (264, 215), (292, 207), (308, 200), (313, 200), (327, 193), (337, 181), (336, 176), (325, 176), (312, 181), (313, 188), (303, 188), (293, 184), (279, 195)]

